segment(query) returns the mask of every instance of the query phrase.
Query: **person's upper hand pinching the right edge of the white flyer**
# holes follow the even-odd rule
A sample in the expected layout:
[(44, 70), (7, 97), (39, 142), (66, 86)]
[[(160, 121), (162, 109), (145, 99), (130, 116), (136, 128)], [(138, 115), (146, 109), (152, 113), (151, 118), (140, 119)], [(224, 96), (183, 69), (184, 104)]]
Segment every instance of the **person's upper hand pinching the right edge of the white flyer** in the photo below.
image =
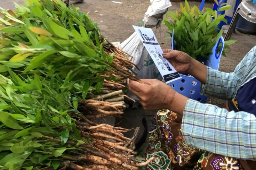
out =
[(163, 50), (166, 58), (179, 73), (189, 73), (193, 58), (189, 54), (177, 50)]

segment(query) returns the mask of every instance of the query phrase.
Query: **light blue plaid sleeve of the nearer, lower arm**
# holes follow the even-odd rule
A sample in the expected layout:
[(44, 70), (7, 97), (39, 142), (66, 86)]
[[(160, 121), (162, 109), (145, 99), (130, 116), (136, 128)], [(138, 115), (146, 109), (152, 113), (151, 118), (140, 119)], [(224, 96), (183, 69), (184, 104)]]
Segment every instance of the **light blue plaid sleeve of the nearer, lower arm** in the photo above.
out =
[(237, 159), (256, 159), (256, 118), (189, 99), (182, 134), (188, 145)]

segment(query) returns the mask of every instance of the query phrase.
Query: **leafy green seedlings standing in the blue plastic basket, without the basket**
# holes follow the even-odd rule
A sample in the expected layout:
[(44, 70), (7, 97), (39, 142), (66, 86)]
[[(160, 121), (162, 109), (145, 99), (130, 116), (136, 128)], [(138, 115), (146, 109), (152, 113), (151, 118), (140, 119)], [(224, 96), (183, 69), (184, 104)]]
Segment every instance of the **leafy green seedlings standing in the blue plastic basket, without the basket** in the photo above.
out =
[[(219, 10), (227, 10), (231, 6), (225, 6)], [(164, 22), (168, 32), (172, 38), (173, 31), (174, 42), (176, 50), (186, 52), (191, 57), (199, 60), (200, 58), (208, 59), (209, 54), (212, 53), (212, 49), (222, 36), (223, 29), (218, 28), (218, 24), (223, 21), (226, 22), (224, 15), (217, 15), (217, 11), (211, 8), (205, 8), (200, 11), (198, 7), (194, 6), (190, 8), (189, 3), (185, 1), (183, 7), (181, 3), (180, 11), (176, 13), (169, 11), (169, 17), (165, 18)], [(227, 46), (235, 43), (235, 40), (225, 42), (222, 55), (226, 56)], [(221, 44), (217, 48), (217, 52), (221, 50)]]

